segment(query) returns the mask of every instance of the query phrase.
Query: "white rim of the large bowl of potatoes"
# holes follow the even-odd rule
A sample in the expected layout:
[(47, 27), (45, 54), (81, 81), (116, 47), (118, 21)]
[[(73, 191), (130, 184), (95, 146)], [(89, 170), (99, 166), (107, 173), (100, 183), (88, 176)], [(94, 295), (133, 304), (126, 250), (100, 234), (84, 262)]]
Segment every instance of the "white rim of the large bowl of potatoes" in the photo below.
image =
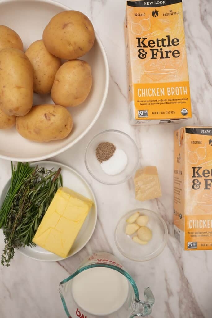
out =
[[(21, 1), (22, 2), (28, 2), (29, 0), (21, 0)], [(50, 4), (56, 5), (56, 6), (62, 8), (64, 10), (72, 10), (68, 6), (66, 6), (66, 5), (64, 5), (62, 3), (59, 3), (57, 1), (53, 1), (53, 0), (33, 0), (33, 1), (35, 1), (35, 2), (43, 2), (43, 3), (50, 3)], [(0, 5), (2, 3), (7, 3), (7, 2), (17, 2), (17, 0), (0, 0)], [(100, 38), (99, 38), (98, 34), (96, 33), (96, 31), (95, 31), (95, 38), (97, 39), (97, 42), (98, 42), (98, 44), (100, 46), (101, 52), (103, 54), (103, 59), (104, 59), (104, 65), (105, 65), (105, 89), (104, 89), (103, 99), (102, 99), (102, 102), (100, 104), (100, 107), (99, 107), (94, 119), (89, 124), (89, 126), (74, 141), (70, 142), (68, 145), (66, 145), (63, 148), (50, 153), (49, 155), (44, 155), (44, 156), (40, 156), (40, 157), (33, 157), (33, 158), (17, 158), (17, 157), (4, 156), (4, 155), (0, 154), (0, 158), (1, 159), (10, 160), (10, 161), (17, 161), (17, 162), (18, 161), (21, 161), (21, 162), (34, 162), (34, 161), (41, 161), (41, 160), (49, 159), (51, 157), (54, 157), (54, 156), (57, 156), (57, 155), (63, 153), (67, 149), (69, 149), (72, 146), (74, 146), (78, 141), (83, 139), (83, 137), (93, 127), (93, 125), (95, 124), (95, 122), (97, 121), (97, 119), (99, 118), (99, 115), (101, 114), (101, 112), (103, 110), (105, 101), (107, 99), (108, 90), (109, 90), (109, 63), (108, 63), (107, 54), (106, 54), (104, 45), (103, 45), (102, 41), (100, 40)]]

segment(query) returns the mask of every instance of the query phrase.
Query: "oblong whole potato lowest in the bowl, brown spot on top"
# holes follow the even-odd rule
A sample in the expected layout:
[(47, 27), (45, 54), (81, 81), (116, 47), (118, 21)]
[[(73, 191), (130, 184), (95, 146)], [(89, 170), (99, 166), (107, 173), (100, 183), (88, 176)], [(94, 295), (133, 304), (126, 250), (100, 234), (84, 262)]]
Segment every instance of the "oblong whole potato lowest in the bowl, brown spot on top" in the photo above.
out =
[(60, 105), (36, 105), (28, 114), (17, 117), (18, 133), (29, 140), (49, 142), (67, 137), (73, 121), (66, 108)]

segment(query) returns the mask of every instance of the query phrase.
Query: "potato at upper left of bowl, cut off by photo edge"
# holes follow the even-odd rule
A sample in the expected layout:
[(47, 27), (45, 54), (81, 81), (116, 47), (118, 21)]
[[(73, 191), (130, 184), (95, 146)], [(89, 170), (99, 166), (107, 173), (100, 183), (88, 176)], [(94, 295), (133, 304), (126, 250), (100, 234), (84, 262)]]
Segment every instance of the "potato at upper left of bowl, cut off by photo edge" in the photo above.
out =
[(0, 50), (18, 49), (23, 51), (23, 43), (19, 35), (6, 25), (0, 25)]

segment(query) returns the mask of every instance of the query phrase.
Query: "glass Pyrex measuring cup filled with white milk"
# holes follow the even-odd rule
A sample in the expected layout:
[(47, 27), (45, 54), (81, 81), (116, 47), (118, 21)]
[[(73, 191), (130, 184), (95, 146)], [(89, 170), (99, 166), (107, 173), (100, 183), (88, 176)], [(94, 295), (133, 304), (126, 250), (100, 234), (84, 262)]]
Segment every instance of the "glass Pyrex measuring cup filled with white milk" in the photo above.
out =
[(133, 278), (112, 254), (96, 252), (60, 282), (59, 293), (69, 318), (132, 318), (151, 314), (149, 287), (140, 301)]

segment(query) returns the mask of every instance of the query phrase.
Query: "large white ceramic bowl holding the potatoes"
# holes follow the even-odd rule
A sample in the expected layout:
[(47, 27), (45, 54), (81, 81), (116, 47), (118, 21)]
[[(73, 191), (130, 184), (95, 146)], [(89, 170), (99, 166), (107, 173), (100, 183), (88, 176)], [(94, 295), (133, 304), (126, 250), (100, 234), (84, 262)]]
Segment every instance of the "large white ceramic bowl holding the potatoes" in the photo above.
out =
[[(57, 13), (70, 10), (63, 4), (50, 0), (2, 0), (0, 1), (1, 24), (15, 30), (22, 38), (24, 50), (39, 39), (43, 29)], [(93, 85), (89, 97), (77, 107), (69, 107), (74, 127), (71, 134), (59, 141), (47, 143), (31, 142), (20, 136), (15, 127), (0, 130), (0, 158), (32, 162), (56, 156), (78, 142), (99, 117), (109, 87), (109, 66), (103, 44), (96, 35), (93, 48), (81, 59), (87, 61), (93, 74)], [(34, 105), (54, 104), (50, 95), (40, 97), (34, 94)]]

